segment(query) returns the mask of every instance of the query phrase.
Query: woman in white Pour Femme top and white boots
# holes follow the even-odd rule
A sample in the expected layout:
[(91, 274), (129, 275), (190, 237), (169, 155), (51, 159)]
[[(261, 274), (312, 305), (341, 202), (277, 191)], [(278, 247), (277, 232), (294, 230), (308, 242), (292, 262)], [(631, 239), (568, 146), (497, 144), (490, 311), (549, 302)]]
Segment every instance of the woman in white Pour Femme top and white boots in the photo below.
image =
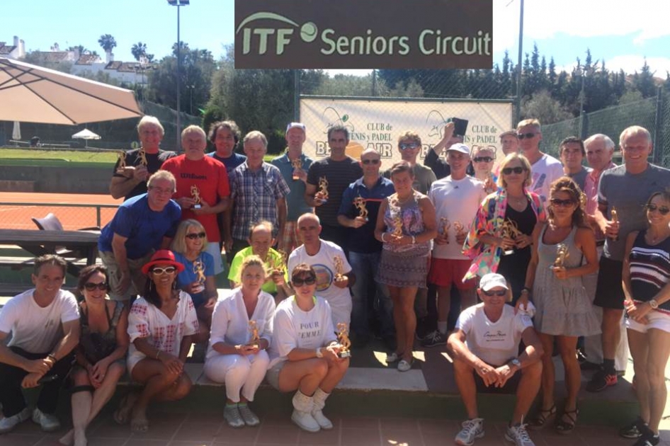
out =
[(330, 306), (314, 296), (317, 273), (300, 263), (291, 273), (295, 295), (283, 300), (273, 319), (268, 382), (279, 391), (294, 391), (291, 420), (301, 429), (332, 429), (323, 414), (326, 399), (349, 367), (341, 351)]

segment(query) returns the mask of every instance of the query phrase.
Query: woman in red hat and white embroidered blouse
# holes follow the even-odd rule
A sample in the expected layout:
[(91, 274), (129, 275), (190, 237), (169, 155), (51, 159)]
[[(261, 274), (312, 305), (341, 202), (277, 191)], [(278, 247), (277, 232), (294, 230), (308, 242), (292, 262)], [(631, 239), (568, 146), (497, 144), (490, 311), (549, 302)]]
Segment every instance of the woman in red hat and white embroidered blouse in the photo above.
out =
[(147, 432), (147, 406), (151, 401), (176, 401), (191, 390), (183, 365), (198, 333), (198, 316), (188, 293), (177, 289), (183, 265), (172, 251), (156, 251), (142, 266), (149, 276), (144, 296), (132, 304), (128, 316), (128, 372), (144, 385), (139, 395), (130, 394), (117, 412), (120, 420), (130, 413), (130, 428)]

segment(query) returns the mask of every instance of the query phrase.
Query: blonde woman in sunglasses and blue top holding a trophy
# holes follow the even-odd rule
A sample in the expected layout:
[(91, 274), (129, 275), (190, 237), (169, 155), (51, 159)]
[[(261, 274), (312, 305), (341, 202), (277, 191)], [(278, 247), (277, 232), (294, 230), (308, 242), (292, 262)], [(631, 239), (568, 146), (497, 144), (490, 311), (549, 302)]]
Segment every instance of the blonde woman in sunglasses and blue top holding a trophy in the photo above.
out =
[(176, 261), (184, 265), (177, 276), (177, 287), (191, 295), (200, 328), (193, 342), (207, 342), (210, 337), (212, 311), (217, 300), (214, 280), (214, 258), (205, 252), (207, 234), (198, 220), (188, 219), (177, 228), (170, 246)]

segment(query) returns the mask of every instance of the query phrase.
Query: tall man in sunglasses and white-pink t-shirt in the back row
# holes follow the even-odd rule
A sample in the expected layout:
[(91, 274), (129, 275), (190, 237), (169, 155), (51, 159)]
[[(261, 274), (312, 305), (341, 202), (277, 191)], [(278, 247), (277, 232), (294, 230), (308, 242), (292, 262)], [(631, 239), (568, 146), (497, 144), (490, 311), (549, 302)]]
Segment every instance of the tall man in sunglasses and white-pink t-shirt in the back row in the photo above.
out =
[(563, 176), (561, 161), (540, 151), (542, 130), (540, 121), (526, 119), (516, 126), (516, 135), (519, 139), (521, 153), (530, 161), (531, 179), (530, 191), (540, 195), (543, 202), (549, 198), (549, 186)]

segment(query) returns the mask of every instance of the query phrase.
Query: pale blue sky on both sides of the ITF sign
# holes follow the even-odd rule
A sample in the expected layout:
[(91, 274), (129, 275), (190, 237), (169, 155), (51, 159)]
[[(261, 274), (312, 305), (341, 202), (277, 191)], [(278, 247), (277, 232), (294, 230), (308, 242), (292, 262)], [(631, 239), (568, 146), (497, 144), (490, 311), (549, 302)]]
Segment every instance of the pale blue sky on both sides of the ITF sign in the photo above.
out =
[[(501, 61), (504, 50), (516, 61), (520, 0), (493, 1), (494, 61)], [(658, 1), (526, 0), (523, 50), (530, 52), (535, 42), (547, 62), (553, 56), (558, 67), (569, 69), (590, 48), (594, 60), (630, 73), (639, 71), (646, 57), (664, 79), (670, 71), (670, 26)], [(115, 59), (130, 61), (130, 47), (138, 41), (158, 59), (176, 42), (176, 8), (165, 0), (3, 0), (2, 12), (0, 41), (11, 44), (18, 35), (26, 50), (48, 51), (57, 42), (62, 49), (84, 45), (103, 54), (98, 38), (111, 34), (118, 44)], [(191, 0), (181, 8), (181, 40), (191, 48), (219, 58), (233, 39), (234, 0)]]

